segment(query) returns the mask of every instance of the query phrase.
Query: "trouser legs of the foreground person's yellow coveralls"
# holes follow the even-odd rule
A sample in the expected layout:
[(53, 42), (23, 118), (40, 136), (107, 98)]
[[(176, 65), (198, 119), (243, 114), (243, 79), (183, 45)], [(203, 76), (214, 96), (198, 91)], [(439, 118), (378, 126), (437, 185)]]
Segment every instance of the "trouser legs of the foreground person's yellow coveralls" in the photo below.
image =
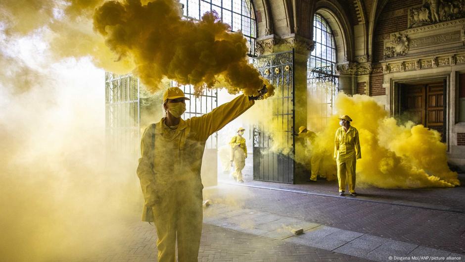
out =
[(197, 262), (202, 234), (202, 190), (192, 192), (176, 187), (152, 207), (157, 229), (158, 262)]

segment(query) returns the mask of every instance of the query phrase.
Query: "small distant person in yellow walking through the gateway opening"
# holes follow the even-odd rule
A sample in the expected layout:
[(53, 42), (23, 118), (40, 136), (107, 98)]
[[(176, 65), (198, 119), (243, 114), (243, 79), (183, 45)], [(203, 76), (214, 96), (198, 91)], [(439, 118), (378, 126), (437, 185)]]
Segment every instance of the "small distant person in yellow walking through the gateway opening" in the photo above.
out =
[(247, 147), (245, 146), (245, 138), (242, 137), (245, 129), (240, 127), (237, 130), (237, 135), (235, 135), (231, 142), (231, 162), (234, 162), (234, 172), (233, 177), (239, 183), (244, 183), (242, 180), (242, 169), (245, 166), (245, 158), (247, 158)]

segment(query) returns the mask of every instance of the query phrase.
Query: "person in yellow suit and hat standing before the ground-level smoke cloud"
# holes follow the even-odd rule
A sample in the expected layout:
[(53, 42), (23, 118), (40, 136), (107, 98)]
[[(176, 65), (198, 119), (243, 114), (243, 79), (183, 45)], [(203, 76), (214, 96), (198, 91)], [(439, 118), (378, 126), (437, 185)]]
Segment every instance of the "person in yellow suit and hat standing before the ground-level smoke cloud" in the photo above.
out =
[(346, 177), (349, 180), (349, 193), (355, 193), (355, 167), (357, 159), (362, 158), (360, 151), (359, 131), (350, 125), (352, 119), (348, 115), (339, 117), (339, 127), (334, 137), (334, 158), (337, 164), (337, 180), (339, 195), (344, 196)]

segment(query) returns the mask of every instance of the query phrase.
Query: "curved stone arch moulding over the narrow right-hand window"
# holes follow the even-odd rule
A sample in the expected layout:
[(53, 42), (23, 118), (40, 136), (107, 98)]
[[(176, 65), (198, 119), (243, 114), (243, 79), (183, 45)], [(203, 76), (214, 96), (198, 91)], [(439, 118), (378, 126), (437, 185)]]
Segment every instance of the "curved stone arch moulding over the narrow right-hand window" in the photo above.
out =
[[(316, 3), (315, 13), (323, 16), (334, 35), (337, 49), (337, 63), (347, 63), (354, 60), (354, 42), (350, 19), (342, 6), (336, 1), (321, 0)], [(313, 21), (312, 15), (312, 21)], [(312, 27), (313, 30), (313, 27)], [(313, 36), (313, 32), (312, 32)]]

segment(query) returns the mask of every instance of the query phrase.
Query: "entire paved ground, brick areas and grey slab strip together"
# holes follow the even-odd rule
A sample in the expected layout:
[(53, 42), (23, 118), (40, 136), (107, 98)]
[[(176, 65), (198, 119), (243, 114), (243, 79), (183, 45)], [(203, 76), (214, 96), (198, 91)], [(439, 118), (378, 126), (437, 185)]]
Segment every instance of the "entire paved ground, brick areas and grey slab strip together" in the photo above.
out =
[[(437, 261), (451, 261), (448, 257), (465, 259), (465, 214), (460, 210), (461, 200), (456, 199), (464, 196), (464, 187), (364, 189), (359, 191), (362, 196), (357, 201), (340, 198), (333, 192), (333, 184), (321, 182), (282, 185), (246, 181), (205, 188), (204, 198), (210, 199), (212, 205), (204, 211), (199, 261), (417, 262), (431, 261), (434, 256), (441, 258)], [(426, 192), (424, 199), (421, 192)], [(444, 199), (452, 200), (450, 205)], [(297, 228), (304, 233), (294, 235), (292, 231)], [(66, 262), (156, 261), (153, 226), (135, 220), (118, 235), (97, 254)]]

